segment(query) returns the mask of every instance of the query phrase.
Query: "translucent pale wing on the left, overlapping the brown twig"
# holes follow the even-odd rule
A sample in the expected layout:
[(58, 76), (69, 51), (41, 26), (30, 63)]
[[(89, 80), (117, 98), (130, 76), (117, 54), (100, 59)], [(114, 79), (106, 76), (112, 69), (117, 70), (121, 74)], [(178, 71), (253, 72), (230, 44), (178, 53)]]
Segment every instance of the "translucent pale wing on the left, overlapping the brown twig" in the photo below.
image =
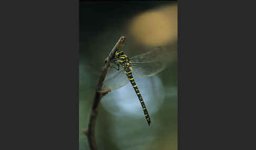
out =
[(129, 80), (122, 67), (120, 67), (119, 71), (114, 68), (110, 68), (110, 72), (103, 82), (103, 91), (121, 88), (128, 82)]

